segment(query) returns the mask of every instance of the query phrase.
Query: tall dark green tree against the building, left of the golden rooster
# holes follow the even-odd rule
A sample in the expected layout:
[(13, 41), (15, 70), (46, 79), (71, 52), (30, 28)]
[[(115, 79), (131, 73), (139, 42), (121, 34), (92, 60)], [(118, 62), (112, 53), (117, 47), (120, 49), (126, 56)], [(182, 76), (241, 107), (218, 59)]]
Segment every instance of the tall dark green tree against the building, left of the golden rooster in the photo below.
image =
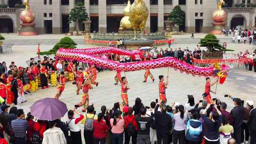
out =
[(69, 12), (68, 21), (69, 23), (76, 22), (76, 31), (79, 31), (79, 20), (85, 21), (88, 19), (88, 14), (82, 2), (76, 3), (76, 7)]

